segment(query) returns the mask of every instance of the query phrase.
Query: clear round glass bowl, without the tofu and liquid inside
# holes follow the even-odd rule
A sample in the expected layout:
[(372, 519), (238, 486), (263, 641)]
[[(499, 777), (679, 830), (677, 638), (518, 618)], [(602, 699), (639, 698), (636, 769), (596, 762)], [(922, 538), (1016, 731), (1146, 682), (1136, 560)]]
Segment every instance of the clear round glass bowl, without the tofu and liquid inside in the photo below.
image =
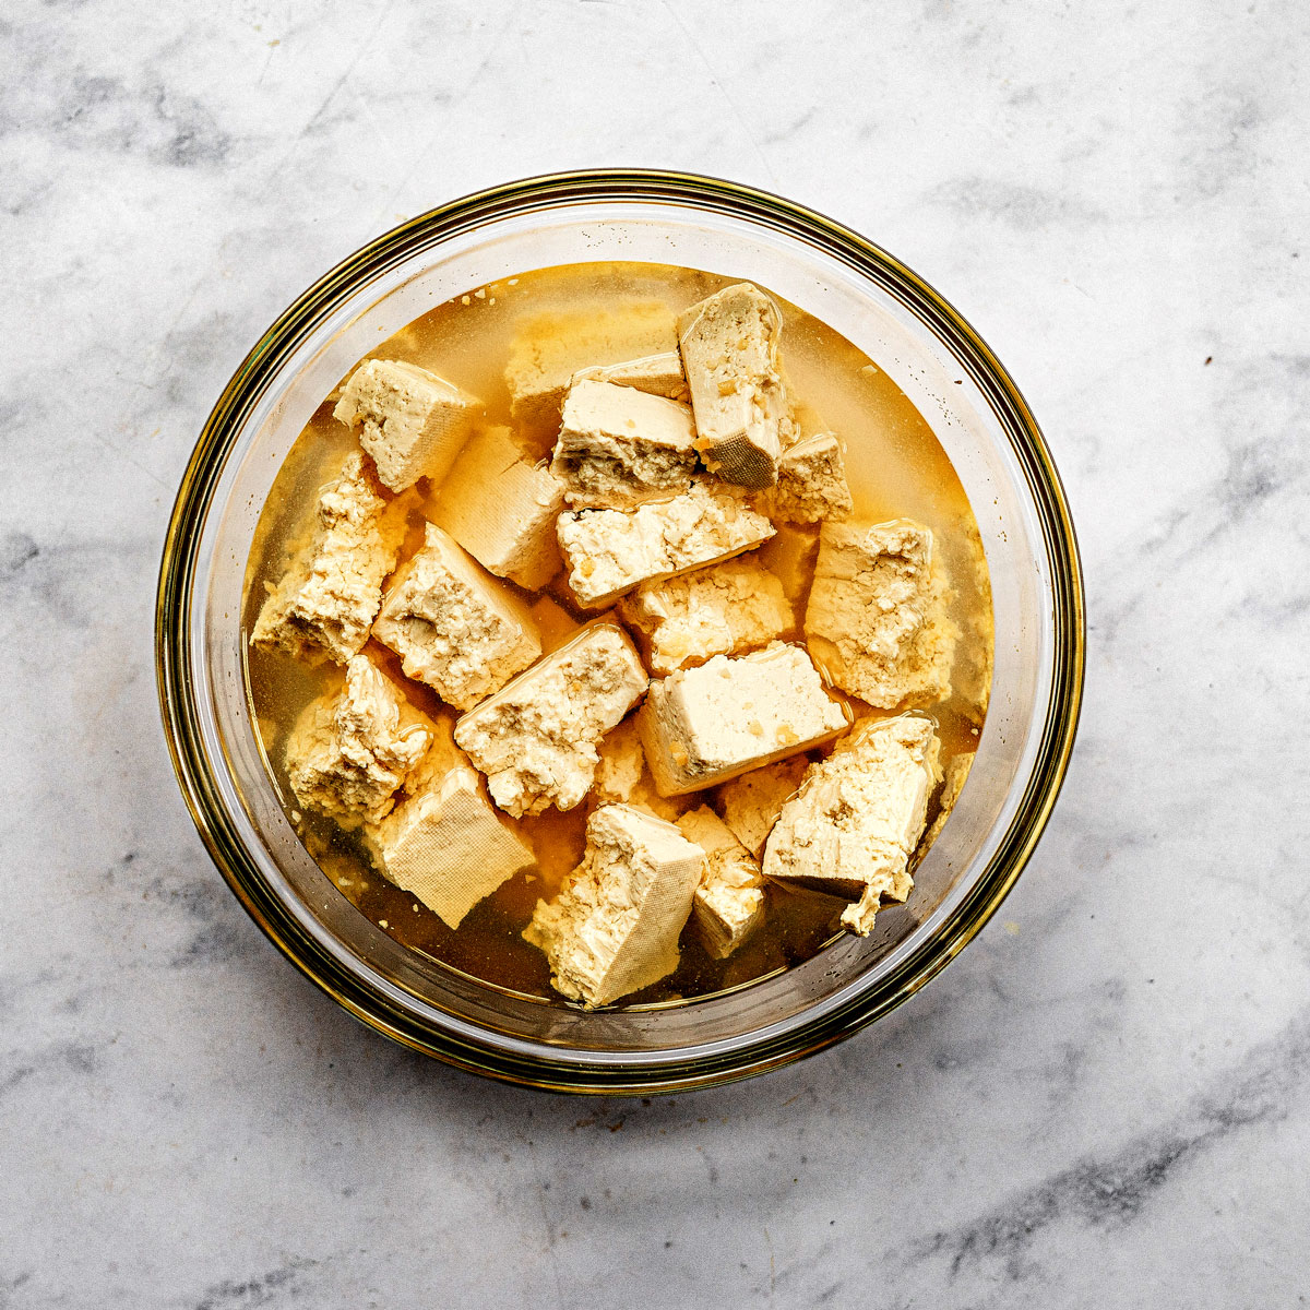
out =
[[(964, 794), (909, 904), (731, 992), (586, 1013), (405, 950), (320, 871), (261, 757), (238, 617), (274, 476), (324, 396), (376, 342), (452, 295), (590, 259), (684, 265), (772, 287), (844, 333), (917, 405), (954, 461), (992, 574), (996, 673)], [(380, 1032), (451, 1064), (561, 1090), (650, 1093), (776, 1068), (922, 986), (1014, 886), (1073, 745), (1085, 620), (1073, 524), (1018, 388), (942, 297), (810, 210), (703, 177), (596, 170), (507, 183), (352, 254), (263, 334), (219, 398), (178, 491), (156, 616), (178, 782), (233, 892), (278, 947)]]

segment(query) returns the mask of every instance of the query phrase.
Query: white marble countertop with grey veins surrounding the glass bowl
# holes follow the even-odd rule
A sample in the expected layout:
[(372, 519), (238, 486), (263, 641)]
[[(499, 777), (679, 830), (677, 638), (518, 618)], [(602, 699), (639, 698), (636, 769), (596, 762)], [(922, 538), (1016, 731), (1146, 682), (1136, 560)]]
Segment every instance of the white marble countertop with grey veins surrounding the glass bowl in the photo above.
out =
[[(1115, 1306), (1310, 1294), (1303, 5), (132, 0), (0, 20), (0, 1306)], [(867, 232), (1024, 388), (1082, 732), (996, 921), (859, 1038), (654, 1103), (365, 1031), (161, 739), (177, 479), (397, 220), (627, 162)]]

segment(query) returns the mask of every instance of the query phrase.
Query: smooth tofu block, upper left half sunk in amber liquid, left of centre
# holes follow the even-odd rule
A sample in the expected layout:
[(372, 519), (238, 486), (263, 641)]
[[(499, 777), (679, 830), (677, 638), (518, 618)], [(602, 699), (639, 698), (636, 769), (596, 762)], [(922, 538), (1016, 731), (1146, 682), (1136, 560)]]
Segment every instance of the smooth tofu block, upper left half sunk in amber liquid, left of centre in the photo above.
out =
[(472, 438), (428, 504), (444, 528), (483, 569), (536, 591), (559, 571), (555, 519), (563, 485), (528, 458), (507, 427)]

